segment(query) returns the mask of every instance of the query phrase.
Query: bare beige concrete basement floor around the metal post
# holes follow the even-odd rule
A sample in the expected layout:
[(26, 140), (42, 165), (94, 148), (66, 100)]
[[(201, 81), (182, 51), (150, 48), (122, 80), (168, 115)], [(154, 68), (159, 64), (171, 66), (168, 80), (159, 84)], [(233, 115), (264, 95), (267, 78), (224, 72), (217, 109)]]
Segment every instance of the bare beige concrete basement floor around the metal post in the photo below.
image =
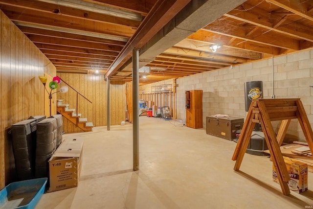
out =
[(132, 125), (95, 127), (84, 136), (78, 187), (45, 193), (36, 209), (304, 209), (309, 191), (289, 196), (272, 182), (268, 157), (245, 154), (241, 171), (231, 160), (236, 143), (140, 117), (140, 170), (133, 172)]

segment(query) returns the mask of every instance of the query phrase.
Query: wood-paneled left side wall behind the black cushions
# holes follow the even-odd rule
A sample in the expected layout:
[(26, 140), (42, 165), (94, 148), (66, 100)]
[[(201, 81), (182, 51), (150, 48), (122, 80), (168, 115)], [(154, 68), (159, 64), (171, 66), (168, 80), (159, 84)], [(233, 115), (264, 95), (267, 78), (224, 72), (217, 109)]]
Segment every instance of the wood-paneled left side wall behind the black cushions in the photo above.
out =
[(29, 116), (44, 115), (44, 86), (38, 76), (56, 74), (41, 51), (0, 11), (0, 189), (16, 171), (10, 126)]

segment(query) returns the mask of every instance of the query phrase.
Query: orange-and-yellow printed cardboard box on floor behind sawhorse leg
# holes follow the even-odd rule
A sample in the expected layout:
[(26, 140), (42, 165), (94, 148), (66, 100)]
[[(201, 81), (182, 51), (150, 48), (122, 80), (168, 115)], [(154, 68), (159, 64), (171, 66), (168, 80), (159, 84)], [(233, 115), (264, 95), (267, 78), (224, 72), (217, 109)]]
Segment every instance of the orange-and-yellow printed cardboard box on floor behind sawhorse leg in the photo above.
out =
[[(289, 189), (297, 193), (308, 190), (308, 164), (287, 157), (284, 157), (284, 161), (291, 178), (288, 182)], [(274, 164), (273, 181), (279, 184)]]

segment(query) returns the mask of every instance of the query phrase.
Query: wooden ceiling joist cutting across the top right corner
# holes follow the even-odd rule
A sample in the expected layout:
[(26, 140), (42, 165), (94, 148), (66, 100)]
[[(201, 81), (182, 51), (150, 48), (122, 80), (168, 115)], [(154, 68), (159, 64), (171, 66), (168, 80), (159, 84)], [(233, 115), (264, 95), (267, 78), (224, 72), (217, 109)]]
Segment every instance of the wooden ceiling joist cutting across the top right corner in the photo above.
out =
[[(311, 1), (299, 1), (299, 0), (267, 0), (270, 3), (273, 3), (279, 7), (282, 7), (288, 11), (291, 11), (294, 14), (297, 14), (305, 19), (313, 21), (313, 13), (309, 11), (308, 4)], [(312, 6), (312, 2), (311, 2)]]

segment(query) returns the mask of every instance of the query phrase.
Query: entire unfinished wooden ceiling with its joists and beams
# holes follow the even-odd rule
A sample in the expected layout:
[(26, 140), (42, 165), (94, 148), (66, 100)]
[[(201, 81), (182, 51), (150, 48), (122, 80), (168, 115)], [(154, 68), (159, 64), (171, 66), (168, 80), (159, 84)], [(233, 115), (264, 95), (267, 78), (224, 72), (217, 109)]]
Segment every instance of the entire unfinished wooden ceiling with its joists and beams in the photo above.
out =
[(151, 67), (140, 85), (313, 47), (309, 0), (0, 0), (0, 9), (60, 72), (131, 81), (140, 48), (139, 66)]

